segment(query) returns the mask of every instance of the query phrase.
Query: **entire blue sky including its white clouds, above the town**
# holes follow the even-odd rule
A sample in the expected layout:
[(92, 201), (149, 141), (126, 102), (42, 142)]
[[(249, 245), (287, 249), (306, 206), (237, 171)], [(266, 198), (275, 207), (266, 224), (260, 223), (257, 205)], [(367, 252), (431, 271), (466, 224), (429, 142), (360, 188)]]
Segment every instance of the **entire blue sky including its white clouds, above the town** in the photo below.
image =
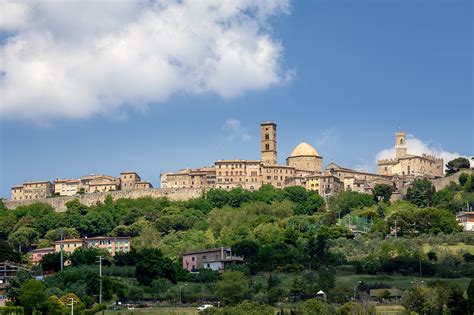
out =
[(470, 0), (0, 0), (0, 196), (30, 180), (474, 153)]

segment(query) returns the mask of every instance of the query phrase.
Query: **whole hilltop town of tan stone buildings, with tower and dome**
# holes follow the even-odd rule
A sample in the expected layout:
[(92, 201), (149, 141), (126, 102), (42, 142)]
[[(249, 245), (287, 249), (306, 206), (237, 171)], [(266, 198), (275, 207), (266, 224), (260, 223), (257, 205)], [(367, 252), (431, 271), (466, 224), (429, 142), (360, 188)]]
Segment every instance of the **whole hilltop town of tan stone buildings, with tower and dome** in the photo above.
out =
[[(395, 133), (396, 155), (392, 159), (378, 161), (377, 173), (350, 169), (334, 162), (323, 168), (323, 156), (306, 142), (301, 142), (286, 158), (286, 164), (278, 164), (277, 124), (264, 122), (260, 125), (261, 159), (217, 160), (213, 165), (196, 169), (182, 169), (161, 174), (160, 187), (179, 190), (218, 188), (231, 190), (242, 188), (258, 190), (263, 185), (276, 188), (302, 186), (316, 191), (322, 197), (330, 197), (341, 191), (372, 193), (377, 184), (393, 188), (392, 199), (406, 193), (416, 178), (437, 179), (444, 176), (443, 160), (428, 154), (410, 154), (407, 150), (406, 133)], [(13, 186), (12, 201), (38, 201), (50, 197), (80, 196), (114, 191), (149, 191), (150, 182), (142, 181), (133, 171), (122, 172), (119, 177), (110, 175), (86, 175), (79, 179), (56, 179), (25, 182)], [(143, 194), (140, 194), (143, 196)]]

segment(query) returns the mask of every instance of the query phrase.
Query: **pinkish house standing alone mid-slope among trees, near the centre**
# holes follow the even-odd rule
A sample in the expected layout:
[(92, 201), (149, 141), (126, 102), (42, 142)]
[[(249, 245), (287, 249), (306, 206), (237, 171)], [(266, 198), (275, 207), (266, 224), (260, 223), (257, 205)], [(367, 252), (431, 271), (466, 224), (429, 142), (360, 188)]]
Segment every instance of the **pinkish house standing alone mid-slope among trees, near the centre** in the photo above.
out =
[(230, 247), (203, 249), (185, 253), (183, 255), (183, 268), (189, 272), (198, 269), (211, 269), (223, 271), (232, 263), (242, 263), (244, 258), (235, 255)]

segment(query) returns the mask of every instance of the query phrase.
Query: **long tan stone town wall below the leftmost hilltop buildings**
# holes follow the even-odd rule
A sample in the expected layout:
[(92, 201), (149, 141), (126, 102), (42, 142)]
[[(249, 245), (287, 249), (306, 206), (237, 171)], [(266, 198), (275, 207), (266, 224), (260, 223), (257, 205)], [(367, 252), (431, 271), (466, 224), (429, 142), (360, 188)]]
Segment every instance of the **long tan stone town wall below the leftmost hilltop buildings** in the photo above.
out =
[(64, 196), (51, 197), (44, 199), (31, 200), (4, 200), (3, 203), (7, 209), (15, 209), (18, 206), (29, 205), (33, 203), (46, 203), (51, 205), (56, 211), (66, 211), (66, 203), (79, 199), (79, 201), (86, 205), (95, 205), (97, 202), (103, 202), (107, 196), (112, 196), (113, 200), (128, 198), (136, 199), (140, 197), (160, 198), (167, 197), (170, 200), (188, 200), (191, 198), (198, 198), (202, 195), (203, 190), (200, 188), (156, 188), (156, 189), (135, 189), (135, 190), (118, 190), (108, 192), (97, 192), (84, 194), (79, 196)]

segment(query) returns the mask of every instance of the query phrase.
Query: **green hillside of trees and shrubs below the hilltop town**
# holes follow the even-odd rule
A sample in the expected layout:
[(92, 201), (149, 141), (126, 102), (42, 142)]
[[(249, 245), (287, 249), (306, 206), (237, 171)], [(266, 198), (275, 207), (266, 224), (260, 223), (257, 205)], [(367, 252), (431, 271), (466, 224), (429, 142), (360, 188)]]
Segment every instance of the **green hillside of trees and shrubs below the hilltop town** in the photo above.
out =
[[(32, 244), (52, 246), (61, 231), (133, 238), (133, 250), (115, 257), (95, 248), (65, 254), (63, 271), (58, 253), (46, 255), (33, 272), (51, 275), (38, 281), (21, 272), (7, 294), (25, 314), (62, 314), (72, 300), (77, 314), (93, 314), (104, 308), (100, 255), (107, 303), (223, 306), (207, 314), (374, 314), (370, 289), (399, 288), (409, 311), (461, 314), (472, 311), (474, 236), (461, 232), (455, 214), (474, 204), (473, 182), (462, 176), (435, 192), (428, 180), (415, 180), (396, 202), (386, 185), (327, 203), (301, 187), (264, 186), (188, 201), (107, 198), (88, 207), (75, 200), (63, 213), (43, 204), (0, 207), (0, 254), (14, 262), (28, 263)], [(232, 247), (245, 263), (223, 273), (182, 269), (183, 253), (217, 246)], [(414, 277), (423, 280), (411, 283)], [(315, 299), (320, 290), (326, 300)], [(387, 292), (374, 301), (390, 300)]]

